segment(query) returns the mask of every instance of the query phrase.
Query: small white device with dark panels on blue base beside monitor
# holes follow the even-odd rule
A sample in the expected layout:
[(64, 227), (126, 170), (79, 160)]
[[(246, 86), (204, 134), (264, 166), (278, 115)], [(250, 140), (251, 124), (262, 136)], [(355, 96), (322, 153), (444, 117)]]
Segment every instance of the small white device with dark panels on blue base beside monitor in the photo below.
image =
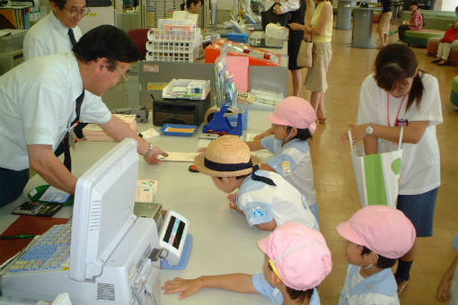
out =
[[(159, 231), (159, 247), (163, 249), (161, 257), (163, 267), (183, 266), (188, 263), (192, 244), (188, 234), (189, 220), (181, 214), (169, 210), (163, 219), (163, 225)], [(165, 264), (166, 263), (166, 264)]]

